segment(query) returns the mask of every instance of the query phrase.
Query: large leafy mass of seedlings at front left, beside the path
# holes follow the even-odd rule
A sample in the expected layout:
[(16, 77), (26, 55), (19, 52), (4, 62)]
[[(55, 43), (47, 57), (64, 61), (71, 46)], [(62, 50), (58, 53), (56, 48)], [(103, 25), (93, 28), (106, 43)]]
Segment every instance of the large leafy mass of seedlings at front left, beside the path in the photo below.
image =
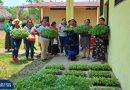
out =
[(29, 78), (18, 80), (14, 83), (15, 90), (43, 90), (47, 87), (54, 87), (55, 80), (54, 75), (45, 75), (43, 73), (37, 73)]

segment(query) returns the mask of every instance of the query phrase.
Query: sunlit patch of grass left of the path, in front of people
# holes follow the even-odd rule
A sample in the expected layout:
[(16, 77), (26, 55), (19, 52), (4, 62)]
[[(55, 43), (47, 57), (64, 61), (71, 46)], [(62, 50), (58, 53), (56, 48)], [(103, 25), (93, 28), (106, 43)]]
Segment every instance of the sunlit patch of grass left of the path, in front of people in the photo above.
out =
[(25, 57), (20, 57), (21, 62), (11, 62), (11, 55), (0, 55), (0, 79), (8, 79), (13, 74), (18, 73), (27, 64)]

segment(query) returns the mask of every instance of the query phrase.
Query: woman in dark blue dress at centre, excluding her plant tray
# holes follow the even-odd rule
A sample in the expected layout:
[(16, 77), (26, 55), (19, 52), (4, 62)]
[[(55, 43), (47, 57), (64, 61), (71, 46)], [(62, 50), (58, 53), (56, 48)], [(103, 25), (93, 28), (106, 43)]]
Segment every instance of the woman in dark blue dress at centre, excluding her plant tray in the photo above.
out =
[[(73, 28), (73, 27), (76, 27), (76, 26), (77, 26), (76, 20), (72, 19), (70, 28)], [(66, 40), (65, 40), (66, 56), (71, 60), (72, 59), (75, 60), (76, 55), (79, 54), (79, 36), (74, 31), (67, 31), (66, 34), (67, 34), (67, 37), (66, 37)], [(73, 57), (71, 58), (71, 56), (73, 56)]]

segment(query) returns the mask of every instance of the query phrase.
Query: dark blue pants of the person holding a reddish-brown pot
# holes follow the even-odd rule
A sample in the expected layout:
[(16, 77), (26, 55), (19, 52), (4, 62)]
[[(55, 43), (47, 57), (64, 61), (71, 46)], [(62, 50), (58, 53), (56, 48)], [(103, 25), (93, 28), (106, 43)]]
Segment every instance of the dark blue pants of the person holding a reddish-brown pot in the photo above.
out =
[(28, 56), (29, 56), (29, 49), (31, 49), (31, 58), (33, 58), (35, 41), (25, 40), (25, 42), (26, 42), (26, 58), (28, 58)]

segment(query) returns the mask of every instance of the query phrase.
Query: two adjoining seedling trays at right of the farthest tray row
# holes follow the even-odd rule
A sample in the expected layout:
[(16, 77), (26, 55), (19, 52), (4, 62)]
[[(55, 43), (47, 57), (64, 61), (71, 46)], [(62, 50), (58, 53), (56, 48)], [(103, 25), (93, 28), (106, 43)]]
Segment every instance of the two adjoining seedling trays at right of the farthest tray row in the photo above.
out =
[(95, 71), (111, 71), (111, 67), (107, 64), (99, 65), (99, 64), (93, 64), (93, 65), (86, 65), (86, 64), (72, 64), (69, 66), (69, 70), (95, 70)]

